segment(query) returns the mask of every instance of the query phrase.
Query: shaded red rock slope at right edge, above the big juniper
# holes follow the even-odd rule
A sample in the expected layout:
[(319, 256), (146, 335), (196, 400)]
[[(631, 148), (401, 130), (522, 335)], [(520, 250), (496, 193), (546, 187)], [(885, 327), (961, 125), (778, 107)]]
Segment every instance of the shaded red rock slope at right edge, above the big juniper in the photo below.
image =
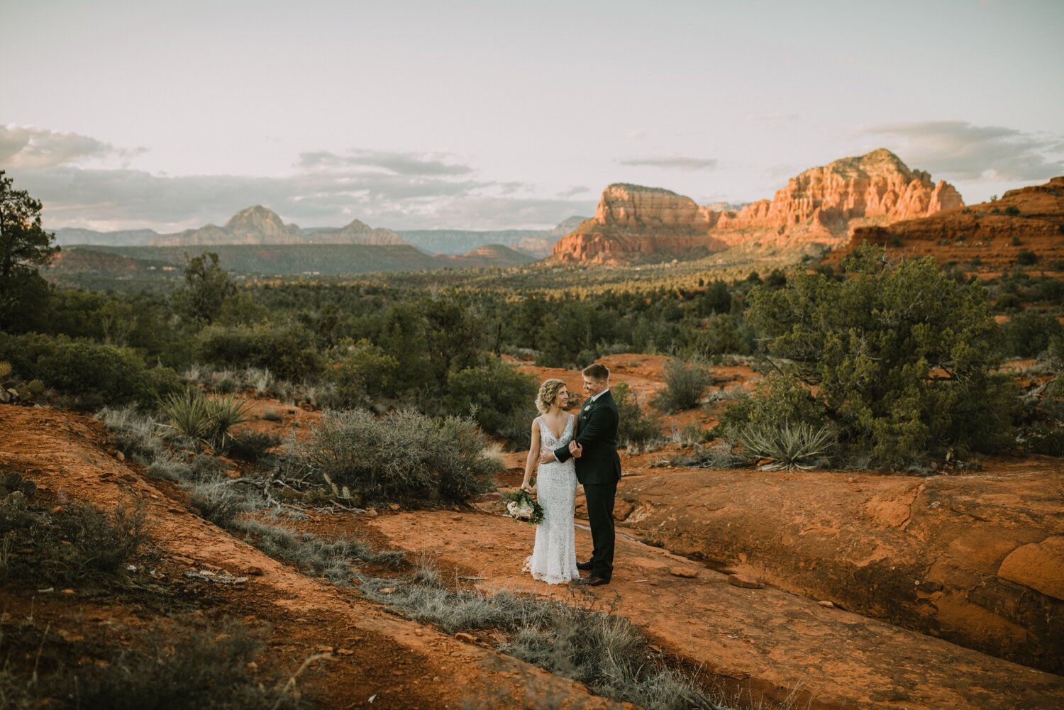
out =
[[(846, 248), (828, 255), (827, 263), (837, 264), (863, 242), (893, 254), (930, 255), (974, 271), (1015, 266), (1057, 270), (1055, 265), (1064, 262), (1064, 177), (1009, 191), (993, 202), (859, 228)], [(1026, 252), (1023, 258), (1021, 252)]]

